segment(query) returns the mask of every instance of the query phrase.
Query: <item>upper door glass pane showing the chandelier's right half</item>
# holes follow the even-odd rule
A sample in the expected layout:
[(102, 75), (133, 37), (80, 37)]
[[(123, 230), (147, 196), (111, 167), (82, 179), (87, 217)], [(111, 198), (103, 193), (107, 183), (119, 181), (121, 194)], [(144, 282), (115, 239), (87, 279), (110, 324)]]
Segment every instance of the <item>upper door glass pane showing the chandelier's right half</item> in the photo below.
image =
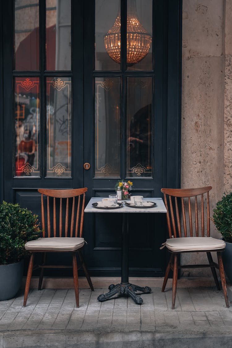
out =
[(127, 69), (152, 70), (152, 0), (127, 0)]

